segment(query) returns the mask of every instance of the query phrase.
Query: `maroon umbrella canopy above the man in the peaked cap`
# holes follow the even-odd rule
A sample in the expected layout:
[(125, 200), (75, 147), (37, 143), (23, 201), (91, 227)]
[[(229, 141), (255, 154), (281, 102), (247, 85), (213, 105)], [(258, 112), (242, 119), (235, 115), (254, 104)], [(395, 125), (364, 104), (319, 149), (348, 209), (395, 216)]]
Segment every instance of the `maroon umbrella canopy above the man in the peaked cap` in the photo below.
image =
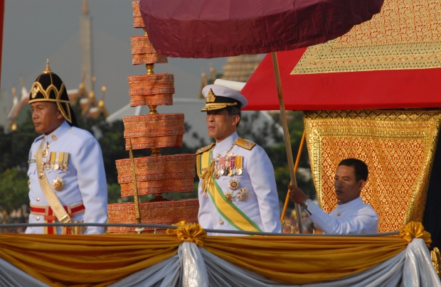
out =
[(383, 0), (141, 0), (159, 54), (218, 58), (324, 43), (368, 21)]

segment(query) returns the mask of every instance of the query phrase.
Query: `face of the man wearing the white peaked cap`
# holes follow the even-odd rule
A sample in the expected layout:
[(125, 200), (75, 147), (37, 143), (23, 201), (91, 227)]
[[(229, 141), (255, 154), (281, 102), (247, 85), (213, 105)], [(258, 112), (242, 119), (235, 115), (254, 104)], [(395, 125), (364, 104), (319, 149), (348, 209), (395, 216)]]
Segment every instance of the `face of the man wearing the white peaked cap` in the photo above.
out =
[(228, 116), (226, 109), (208, 111), (206, 117), (208, 136), (216, 139), (217, 142), (223, 141), (235, 132), (239, 119), (237, 114)]

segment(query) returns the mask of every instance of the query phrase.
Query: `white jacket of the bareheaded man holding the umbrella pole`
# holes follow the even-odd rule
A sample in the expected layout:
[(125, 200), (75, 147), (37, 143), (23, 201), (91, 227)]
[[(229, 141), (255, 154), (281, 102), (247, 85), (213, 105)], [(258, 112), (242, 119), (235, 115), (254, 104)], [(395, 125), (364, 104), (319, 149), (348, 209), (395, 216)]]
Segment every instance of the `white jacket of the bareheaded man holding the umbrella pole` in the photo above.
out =
[(371, 205), (366, 205), (361, 197), (344, 205), (337, 204), (335, 210), (327, 214), (314, 202), (307, 210), (312, 220), (325, 234), (374, 234), (378, 233), (378, 215)]

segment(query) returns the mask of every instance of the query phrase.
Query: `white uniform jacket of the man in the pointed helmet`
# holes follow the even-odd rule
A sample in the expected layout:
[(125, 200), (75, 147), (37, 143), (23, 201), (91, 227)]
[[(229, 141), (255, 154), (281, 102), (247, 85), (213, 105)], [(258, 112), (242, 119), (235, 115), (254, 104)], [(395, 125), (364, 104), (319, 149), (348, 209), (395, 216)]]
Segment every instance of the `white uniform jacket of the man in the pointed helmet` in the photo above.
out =
[[(64, 180), (65, 187), (60, 191), (54, 190), (61, 205), (71, 206), (83, 202), (85, 212), (75, 215), (73, 222), (106, 223), (107, 183), (100, 144), (88, 131), (70, 126), (67, 121), (53, 133), (39, 136), (33, 141), (29, 152), (28, 169), (31, 205), (49, 205), (41, 190), (36, 169), (36, 153), (41, 141), (44, 141), (43, 151), (46, 144), (49, 144), (49, 157), (51, 154), (59, 156), (60, 153), (64, 153), (64, 155), (68, 153), (68, 167), (65, 170), (44, 168), (44, 171), (51, 184), (58, 177)], [(43, 162), (46, 162), (47, 159), (47, 157), (43, 158)], [(43, 215), (29, 215), (29, 223), (44, 222)], [(87, 227), (84, 234), (102, 234), (104, 230), (104, 227), (91, 226)], [(43, 227), (28, 227), (26, 233), (41, 234)], [(61, 227), (57, 228), (57, 234), (62, 234)]]

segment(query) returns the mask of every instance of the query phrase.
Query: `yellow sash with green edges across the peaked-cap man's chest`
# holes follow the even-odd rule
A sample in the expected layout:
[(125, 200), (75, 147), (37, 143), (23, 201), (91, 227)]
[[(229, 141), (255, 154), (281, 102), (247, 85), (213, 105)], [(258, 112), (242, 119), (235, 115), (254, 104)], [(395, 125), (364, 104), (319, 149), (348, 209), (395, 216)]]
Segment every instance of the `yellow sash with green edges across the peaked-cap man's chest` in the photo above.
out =
[(262, 230), (250, 220), (237, 206), (230, 202), (221, 187), (213, 177), (214, 165), (211, 164), (211, 153), (213, 149), (199, 153), (196, 156), (196, 166), (199, 178), (203, 178), (203, 192), (208, 193), (216, 207), (216, 210), (227, 220), (235, 229), (240, 231), (262, 232)]

